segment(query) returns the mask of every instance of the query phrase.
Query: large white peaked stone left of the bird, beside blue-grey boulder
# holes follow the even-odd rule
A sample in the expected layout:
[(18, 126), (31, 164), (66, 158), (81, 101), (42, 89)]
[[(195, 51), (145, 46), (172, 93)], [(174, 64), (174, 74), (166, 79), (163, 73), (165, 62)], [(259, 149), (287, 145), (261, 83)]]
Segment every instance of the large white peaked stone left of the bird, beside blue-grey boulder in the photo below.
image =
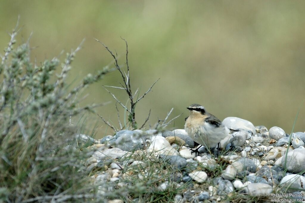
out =
[(147, 152), (156, 152), (157, 154), (165, 155), (165, 156), (178, 156), (179, 153), (174, 149), (172, 146), (170, 146), (170, 143), (164, 139), (163, 137), (156, 137), (154, 139), (148, 149)]

